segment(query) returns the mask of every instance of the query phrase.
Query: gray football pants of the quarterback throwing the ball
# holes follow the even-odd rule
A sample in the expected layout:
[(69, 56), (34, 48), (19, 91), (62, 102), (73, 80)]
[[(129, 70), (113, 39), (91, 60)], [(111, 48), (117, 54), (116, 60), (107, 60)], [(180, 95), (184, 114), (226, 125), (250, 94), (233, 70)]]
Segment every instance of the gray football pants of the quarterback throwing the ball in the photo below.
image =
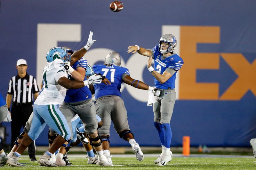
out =
[(174, 103), (176, 100), (176, 92), (172, 89), (162, 89), (160, 96), (155, 96), (157, 100), (153, 103), (154, 122), (161, 124), (169, 124), (172, 118)]

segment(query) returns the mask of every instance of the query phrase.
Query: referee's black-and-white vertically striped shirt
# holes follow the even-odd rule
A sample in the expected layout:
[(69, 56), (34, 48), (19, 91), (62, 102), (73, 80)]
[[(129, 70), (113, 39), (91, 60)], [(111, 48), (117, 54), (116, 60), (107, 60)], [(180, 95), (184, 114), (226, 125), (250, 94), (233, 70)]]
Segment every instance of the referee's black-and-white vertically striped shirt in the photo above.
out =
[(13, 95), (14, 103), (33, 103), (32, 94), (39, 92), (36, 79), (26, 74), (20, 78), (19, 74), (13, 76), (9, 82), (8, 94)]

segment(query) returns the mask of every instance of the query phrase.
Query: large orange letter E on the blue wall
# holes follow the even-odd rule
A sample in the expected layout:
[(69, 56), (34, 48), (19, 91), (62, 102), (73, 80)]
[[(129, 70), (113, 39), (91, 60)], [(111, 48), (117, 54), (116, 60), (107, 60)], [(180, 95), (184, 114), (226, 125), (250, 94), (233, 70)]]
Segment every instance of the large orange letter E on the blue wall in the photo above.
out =
[(180, 100), (218, 100), (219, 83), (197, 83), (197, 69), (219, 69), (219, 53), (197, 53), (197, 43), (220, 43), (218, 26), (180, 26)]

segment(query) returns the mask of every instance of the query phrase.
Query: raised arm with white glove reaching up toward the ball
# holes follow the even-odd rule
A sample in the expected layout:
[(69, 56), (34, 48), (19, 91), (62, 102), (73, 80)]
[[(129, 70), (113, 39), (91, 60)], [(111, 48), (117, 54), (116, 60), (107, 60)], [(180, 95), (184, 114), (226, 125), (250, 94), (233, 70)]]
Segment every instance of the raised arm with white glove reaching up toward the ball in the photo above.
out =
[(89, 38), (88, 38), (86, 45), (71, 55), (71, 61), (70, 61), (71, 66), (76, 61), (80, 60), (84, 56), (84, 54), (89, 50), (89, 48), (92, 46), (92, 44), (96, 41), (95, 39), (92, 40), (92, 35), (93, 35), (93, 32), (90, 31)]

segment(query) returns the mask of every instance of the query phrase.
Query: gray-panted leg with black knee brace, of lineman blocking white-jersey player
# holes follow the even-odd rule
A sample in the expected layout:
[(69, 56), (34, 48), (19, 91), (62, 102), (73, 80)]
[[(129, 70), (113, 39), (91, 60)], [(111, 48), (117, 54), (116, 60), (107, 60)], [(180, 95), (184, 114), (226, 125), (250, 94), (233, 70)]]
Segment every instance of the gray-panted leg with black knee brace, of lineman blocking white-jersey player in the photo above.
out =
[(101, 138), (97, 131), (98, 122), (96, 119), (96, 109), (92, 100), (84, 103), (83, 110), (77, 108), (77, 114), (81, 118), (85, 132), (88, 134), (90, 144), (94, 147), (97, 152), (99, 159), (98, 163), (102, 166), (113, 166), (112, 162), (109, 161), (106, 156), (103, 154), (101, 146)]

